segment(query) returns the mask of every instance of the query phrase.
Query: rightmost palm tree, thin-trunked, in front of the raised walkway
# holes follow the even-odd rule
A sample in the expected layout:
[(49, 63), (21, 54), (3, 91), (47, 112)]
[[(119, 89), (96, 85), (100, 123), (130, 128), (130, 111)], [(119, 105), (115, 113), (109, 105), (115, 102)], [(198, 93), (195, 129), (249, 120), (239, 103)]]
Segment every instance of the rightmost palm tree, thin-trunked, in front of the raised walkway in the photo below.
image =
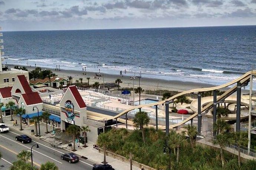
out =
[(245, 146), (248, 143), (248, 136), (246, 132), (234, 132), (232, 134), (232, 143), (238, 146), (238, 166), (241, 167), (241, 146)]

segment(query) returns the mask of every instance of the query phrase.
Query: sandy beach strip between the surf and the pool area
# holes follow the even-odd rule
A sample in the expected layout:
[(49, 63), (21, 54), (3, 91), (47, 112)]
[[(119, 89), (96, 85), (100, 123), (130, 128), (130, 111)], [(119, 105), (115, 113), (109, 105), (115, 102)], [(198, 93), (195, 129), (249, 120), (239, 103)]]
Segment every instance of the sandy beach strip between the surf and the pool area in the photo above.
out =
[[(14, 65), (8, 65), (9, 68), (13, 68)], [(23, 67), (23, 66), (20, 66)], [(26, 67), (29, 71), (32, 71), (35, 69), (35, 67)], [(95, 79), (95, 72), (88, 72), (86, 71), (86, 75), (83, 75), (82, 71), (74, 71), (74, 70), (63, 70), (56, 71), (52, 68), (42, 68), (42, 69), (48, 69), (51, 70), (53, 73), (58, 75), (58, 77), (66, 78), (68, 79), (69, 76), (73, 77), (73, 83), (75, 83), (76, 80), (79, 80), (79, 78), (83, 78), (83, 82), (88, 82), (86, 79), (89, 77), (89, 84), (93, 84), (94, 82), (98, 81), (100, 84), (106, 83), (106, 82), (115, 82), (116, 79), (121, 79), (122, 83), (120, 84), (121, 88), (132, 88), (133, 87), (133, 81), (130, 79), (130, 76), (122, 76), (122, 75), (111, 75), (111, 74), (105, 74), (101, 72), (100, 79)], [(80, 82), (80, 81), (79, 81)], [(139, 80), (134, 80), (134, 88), (137, 88), (139, 86)], [(163, 79), (151, 79), (151, 78), (143, 78), (143, 74), (141, 75), (140, 79), (140, 86), (142, 89), (148, 89), (148, 90), (168, 90), (168, 91), (186, 91), (190, 89), (195, 88), (206, 88), (206, 87), (212, 87), (214, 85), (211, 84), (201, 84), (196, 82), (186, 82), (186, 81), (167, 81)], [(223, 89), (225, 90), (225, 89)]]

